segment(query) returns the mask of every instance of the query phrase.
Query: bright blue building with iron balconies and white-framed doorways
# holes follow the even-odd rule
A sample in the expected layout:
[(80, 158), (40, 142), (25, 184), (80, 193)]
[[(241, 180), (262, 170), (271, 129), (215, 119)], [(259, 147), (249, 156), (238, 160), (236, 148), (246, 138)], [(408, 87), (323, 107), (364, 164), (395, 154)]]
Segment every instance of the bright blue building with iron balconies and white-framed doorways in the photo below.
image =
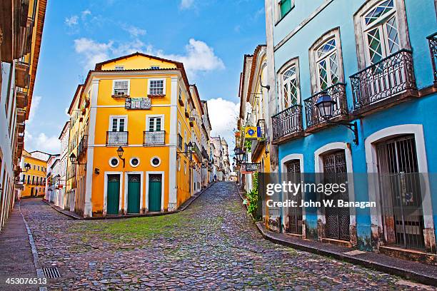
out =
[[(271, 168), (353, 173), (345, 199), (377, 203), (282, 211), (269, 218), (279, 231), (436, 253), (436, 9), (434, 0), (266, 0)], [(330, 122), (316, 108), (326, 94)], [(332, 123), (356, 123), (357, 140)]]

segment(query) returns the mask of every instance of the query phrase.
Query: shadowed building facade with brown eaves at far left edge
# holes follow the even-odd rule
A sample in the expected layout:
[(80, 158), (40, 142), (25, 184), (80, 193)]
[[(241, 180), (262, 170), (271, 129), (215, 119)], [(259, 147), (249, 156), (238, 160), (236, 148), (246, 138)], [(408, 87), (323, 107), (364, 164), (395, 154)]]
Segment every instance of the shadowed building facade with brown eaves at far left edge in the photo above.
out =
[(19, 180), (46, 0), (0, 2), (0, 228), (23, 188)]

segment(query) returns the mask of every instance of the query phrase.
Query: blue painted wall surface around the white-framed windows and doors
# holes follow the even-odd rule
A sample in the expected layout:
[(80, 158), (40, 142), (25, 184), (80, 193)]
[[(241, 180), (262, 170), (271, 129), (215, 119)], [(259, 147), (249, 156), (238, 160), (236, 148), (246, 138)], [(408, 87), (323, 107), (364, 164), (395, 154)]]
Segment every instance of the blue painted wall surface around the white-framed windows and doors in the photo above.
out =
[[(271, 0), (273, 5), (277, 2)], [(284, 19), (273, 26), (273, 43), (276, 45), (289, 34), (298, 24), (317, 9), (323, 0), (296, 0), (296, 6)], [(346, 95), (349, 111), (353, 109), (351, 82), (348, 78), (358, 71), (355, 29), (353, 14), (360, 9), (365, 1), (335, 0), (315, 18), (311, 19), (303, 28), (291, 37), (285, 44), (275, 51), (275, 71), (281, 68), (291, 58), (299, 58), (301, 101), (311, 96), (310, 66), (308, 49), (320, 36), (333, 28), (340, 28), (341, 49), (343, 53), (343, 73), (346, 82)], [(409, 39), (413, 49), (413, 62), (416, 83), (419, 89), (433, 85), (433, 70), (429, 52), (429, 36), (437, 31), (436, 7), (433, 0), (405, 0), (408, 21)], [(401, 31), (399, 31), (401, 33)], [(276, 88), (278, 92), (278, 88)], [(348, 128), (334, 126), (313, 133), (304, 138), (298, 138), (278, 147), (279, 161), (291, 153), (303, 154), (303, 166), (306, 173), (314, 172), (314, 151), (328, 143), (352, 143), (351, 153), (354, 173), (366, 173), (366, 155), (364, 139), (372, 133), (390, 126), (401, 124), (422, 124), (426, 142), (426, 156), (428, 172), (437, 173), (437, 94), (428, 95), (401, 103), (378, 113), (373, 113), (358, 120), (359, 146), (353, 144), (353, 133)], [(303, 114), (303, 124), (306, 124)], [(281, 170), (281, 169), (280, 169)], [(433, 195), (433, 210), (437, 210), (437, 183), (431, 180)], [(355, 185), (356, 200), (368, 200), (367, 185)], [(368, 210), (360, 210), (357, 215), (357, 234), (361, 240), (370, 238), (371, 221)], [(436, 221), (437, 215), (434, 215)], [(307, 228), (316, 228), (316, 215), (309, 215)], [(437, 234), (436, 234), (437, 235)], [(368, 248), (363, 246), (362, 248)]]

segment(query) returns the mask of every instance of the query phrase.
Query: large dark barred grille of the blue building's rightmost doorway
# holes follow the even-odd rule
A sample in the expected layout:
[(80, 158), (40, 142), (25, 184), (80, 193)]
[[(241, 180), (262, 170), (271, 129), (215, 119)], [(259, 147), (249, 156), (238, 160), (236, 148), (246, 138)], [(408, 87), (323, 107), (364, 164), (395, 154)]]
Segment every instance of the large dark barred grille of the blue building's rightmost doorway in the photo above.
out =
[(424, 249), (421, 181), (414, 136), (380, 143), (377, 153), (386, 242)]

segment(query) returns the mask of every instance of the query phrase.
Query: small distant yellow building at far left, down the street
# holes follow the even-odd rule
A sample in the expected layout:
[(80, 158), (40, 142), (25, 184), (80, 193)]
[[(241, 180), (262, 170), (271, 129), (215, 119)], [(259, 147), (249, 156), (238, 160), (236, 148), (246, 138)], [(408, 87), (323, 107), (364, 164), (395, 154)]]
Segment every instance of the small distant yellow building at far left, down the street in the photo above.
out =
[(24, 185), (19, 193), (21, 198), (44, 197), (46, 194), (47, 160), (44, 158), (49, 155), (35, 153), (39, 152), (34, 152), (32, 156), (33, 153), (24, 150), (21, 155), (21, 165), (24, 169), (20, 175), (20, 180)]

